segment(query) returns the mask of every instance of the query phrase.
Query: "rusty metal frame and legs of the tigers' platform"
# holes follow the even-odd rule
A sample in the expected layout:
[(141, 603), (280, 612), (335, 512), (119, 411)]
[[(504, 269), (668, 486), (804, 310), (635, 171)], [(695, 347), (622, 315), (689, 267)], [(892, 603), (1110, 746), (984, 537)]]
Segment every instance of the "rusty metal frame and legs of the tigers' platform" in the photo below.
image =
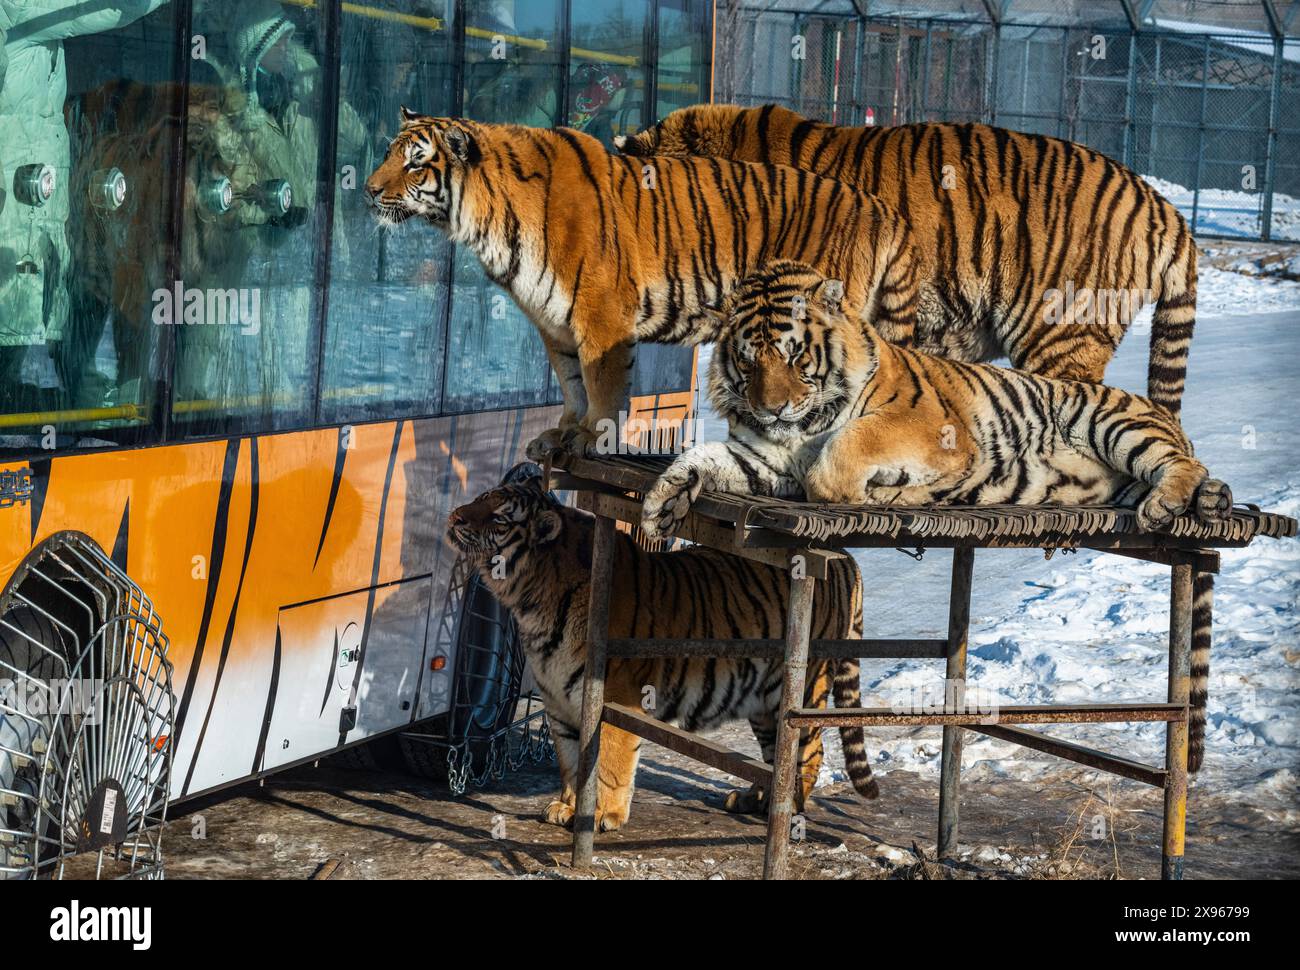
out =
[[(573, 865), (592, 863), (597, 807), (597, 771), (599, 759), (599, 727), (602, 723), (634, 733), (649, 741), (679, 752), (711, 767), (727, 771), (770, 793), (767, 848), (763, 857), (764, 879), (784, 879), (788, 872), (790, 823), (794, 805), (798, 736), (801, 728), (812, 727), (901, 727), (941, 726), (944, 729), (942, 761), (939, 789), (937, 854), (950, 858), (957, 850), (958, 802), (961, 781), (962, 732), (976, 731), (991, 737), (1045, 752), (1066, 761), (1143, 781), (1164, 789), (1162, 879), (1182, 879), (1184, 832), (1187, 823), (1187, 754), (1188, 696), (1191, 689), (1192, 648), (1192, 583), (1197, 572), (1217, 573), (1217, 551), (1204, 549), (1195, 537), (1165, 533), (1092, 534), (1070, 542), (1071, 549), (1093, 549), (1115, 555), (1161, 563), (1170, 570), (1169, 679), (1164, 702), (1083, 703), (1083, 705), (1010, 705), (1000, 707), (989, 723), (989, 714), (970, 711), (961, 703), (966, 685), (966, 651), (970, 629), (971, 577), (975, 549), (1017, 547), (1056, 549), (1057, 542), (1043, 537), (1000, 537), (965, 540), (914, 537), (900, 541), (897, 534), (854, 534), (824, 542), (794, 538), (748, 524), (737, 502), (719, 501), (707, 493), (693, 506), (693, 512), (676, 531), (679, 538), (702, 544), (725, 553), (790, 570), (788, 623), (780, 640), (619, 640), (608, 636), (610, 590), (614, 567), (614, 532), (618, 521), (640, 523), (640, 494), (654, 469), (637, 475), (621, 465), (593, 459), (559, 459), (568, 473), (558, 476), (558, 488), (578, 493), (580, 507), (595, 515), (595, 542), (592, 562), (592, 599), (589, 606), (589, 645), (582, 683), (582, 718), (580, 728), (580, 761), (577, 774), (577, 807), (573, 818)], [(646, 475), (651, 475), (650, 478)], [(1245, 515), (1245, 512), (1243, 512)], [(1253, 515), (1258, 515), (1253, 512)], [(1271, 516), (1271, 519), (1279, 519)], [(1283, 520), (1280, 532), (1290, 523)], [(1277, 523), (1274, 523), (1277, 525)], [(1218, 540), (1216, 545), (1240, 546), (1249, 537), (1235, 541)], [(953, 570), (948, 607), (948, 636), (935, 640), (841, 640), (810, 641), (809, 631), (816, 583), (826, 579), (827, 563), (845, 555), (845, 547), (952, 547)], [(781, 690), (783, 715), (777, 720), (775, 763), (768, 766), (706, 741), (671, 724), (656, 720), (645, 711), (624, 705), (606, 703), (604, 676), (610, 658), (628, 657), (781, 657), (785, 674)], [(958, 698), (942, 711), (898, 713), (889, 707), (803, 709), (805, 675), (810, 658), (863, 659), (944, 659), (946, 687)], [(945, 697), (949, 693), (945, 692)], [(1022, 724), (1082, 722), (1165, 722), (1165, 765), (1156, 767), (1122, 755), (1095, 750), (1057, 740)]]

